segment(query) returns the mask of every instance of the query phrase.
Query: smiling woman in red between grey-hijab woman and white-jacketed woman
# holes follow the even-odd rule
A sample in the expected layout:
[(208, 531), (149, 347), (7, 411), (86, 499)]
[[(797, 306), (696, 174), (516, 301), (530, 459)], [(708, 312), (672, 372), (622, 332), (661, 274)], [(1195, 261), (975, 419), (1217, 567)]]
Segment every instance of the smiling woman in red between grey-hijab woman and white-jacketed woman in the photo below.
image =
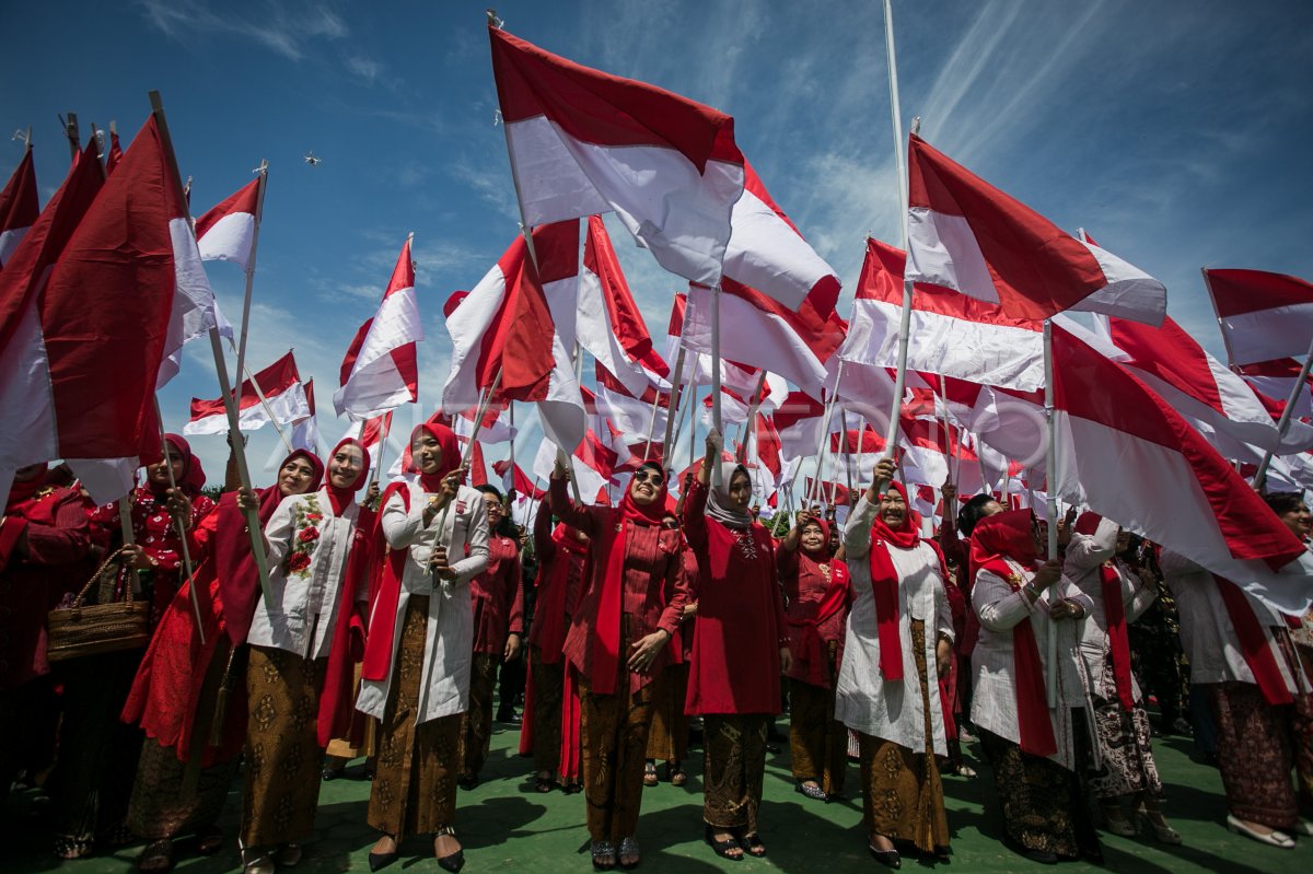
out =
[(830, 550), (830, 524), (798, 510), (776, 552), (788, 605), (789, 757), (797, 790), (830, 801), (843, 795), (848, 730), (834, 718), (834, 681), (843, 663), (852, 587), (848, 566)]

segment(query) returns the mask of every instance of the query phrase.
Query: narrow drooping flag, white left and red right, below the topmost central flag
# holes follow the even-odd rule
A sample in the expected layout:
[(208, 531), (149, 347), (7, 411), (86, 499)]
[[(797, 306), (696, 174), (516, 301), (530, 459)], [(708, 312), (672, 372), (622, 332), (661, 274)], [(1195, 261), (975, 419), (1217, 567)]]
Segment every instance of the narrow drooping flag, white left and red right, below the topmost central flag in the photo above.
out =
[[(587, 349), (630, 395), (642, 395), (650, 385), (649, 371), (658, 377), (670, 375), (670, 367), (653, 348), (647, 324), (629, 291), (600, 215), (588, 218), (575, 327), (579, 346)], [(566, 337), (562, 336), (562, 340)]]

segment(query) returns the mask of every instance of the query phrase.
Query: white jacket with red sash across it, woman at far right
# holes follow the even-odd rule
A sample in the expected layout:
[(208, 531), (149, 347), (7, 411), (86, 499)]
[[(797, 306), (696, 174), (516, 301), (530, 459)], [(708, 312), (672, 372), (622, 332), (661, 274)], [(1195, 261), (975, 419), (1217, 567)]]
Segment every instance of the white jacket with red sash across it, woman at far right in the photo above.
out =
[[(1213, 575), (1180, 552), (1163, 550), (1159, 556), (1162, 576), (1176, 601), (1180, 615), (1180, 642), (1190, 659), (1191, 685), (1201, 682), (1257, 682), (1239, 648), (1239, 638), (1230, 622), (1230, 614), (1217, 591)], [(1222, 585), (1226, 585), (1222, 583)], [(1289, 634), (1285, 622), (1271, 608), (1245, 594), (1249, 606), (1263, 629), (1263, 642), (1272, 654), (1285, 688), (1293, 694), (1308, 690), (1302, 672), (1292, 676), (1285, 656), (1276, 646), (1278, 635)]]

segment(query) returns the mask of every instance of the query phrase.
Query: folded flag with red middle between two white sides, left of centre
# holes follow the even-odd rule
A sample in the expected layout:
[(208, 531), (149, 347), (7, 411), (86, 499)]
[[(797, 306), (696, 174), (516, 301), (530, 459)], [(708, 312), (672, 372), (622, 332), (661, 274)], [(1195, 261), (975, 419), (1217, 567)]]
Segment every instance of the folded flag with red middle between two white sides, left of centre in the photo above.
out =
[(548, 438), (570, 449), (583, 440), (584, 412), (570, 354), (548, 306), (548, 289), (578, 282), (579, 223), (534, 228), (533, 249), (537, 266), (524, 236), (516, 236), (473, 291), (453, 295), (454, 307), (448, 302), (452, 369), (442, 408), (475, 407), (500, 373), (496, 398), (537, 402)]

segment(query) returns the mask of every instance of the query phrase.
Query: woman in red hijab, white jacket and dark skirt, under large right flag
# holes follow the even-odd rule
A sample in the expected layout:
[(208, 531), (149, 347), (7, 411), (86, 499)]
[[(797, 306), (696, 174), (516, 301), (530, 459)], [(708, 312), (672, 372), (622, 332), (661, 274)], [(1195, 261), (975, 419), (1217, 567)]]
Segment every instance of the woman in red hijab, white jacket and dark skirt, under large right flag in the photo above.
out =
[[(1031, 510), (987, 516), (972, 533), (972, 606), (981, 622), (972, 722), (994, 768), (1004, 840), (1035, 862), (1099, 861), (1081, 785), (1098, 753), (1078, 651), (1092, 604), (1062, 577), (1060, 560), (1037, 560), (1039, 537)], [(1048, 663), (1050, 629), (1057, 664)]]

